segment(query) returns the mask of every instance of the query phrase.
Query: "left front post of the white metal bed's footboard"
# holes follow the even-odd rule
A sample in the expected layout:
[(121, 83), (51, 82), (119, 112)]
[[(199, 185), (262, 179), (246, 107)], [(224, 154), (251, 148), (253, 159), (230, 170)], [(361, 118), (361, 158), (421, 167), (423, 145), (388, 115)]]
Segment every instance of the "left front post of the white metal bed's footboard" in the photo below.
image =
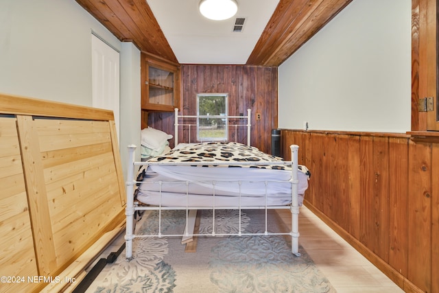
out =
[(125, 254), (126, 259), (132, 259), (132, 239), (134, 239), (134, 151), (136, 145), (128, 145), (130, 165), (128, 167), (126, 181), (126, 233), (125, 233)]

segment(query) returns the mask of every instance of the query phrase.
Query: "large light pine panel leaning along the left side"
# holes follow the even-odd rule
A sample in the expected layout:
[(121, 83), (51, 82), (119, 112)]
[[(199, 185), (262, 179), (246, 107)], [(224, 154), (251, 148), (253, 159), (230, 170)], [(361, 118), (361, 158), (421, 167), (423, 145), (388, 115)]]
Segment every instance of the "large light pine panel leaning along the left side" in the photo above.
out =
[(8, 290), (59, 292), (67, 284), (50, 278), (84, 277), (104, 235), (123, 228), (115, 121), (108, 110), (3, 94), (0, 115), (0, 272), (25, 277)]

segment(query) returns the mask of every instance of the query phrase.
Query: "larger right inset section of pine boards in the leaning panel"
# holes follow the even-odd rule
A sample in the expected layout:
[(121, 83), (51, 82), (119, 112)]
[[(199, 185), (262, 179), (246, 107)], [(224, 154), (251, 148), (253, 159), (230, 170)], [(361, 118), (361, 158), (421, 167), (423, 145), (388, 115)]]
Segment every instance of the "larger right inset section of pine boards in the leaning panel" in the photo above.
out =
[[(35, 119), (58, 266), (121, 207), (107, 121)], [(47, 161), (47, 162), (46, 162)]]

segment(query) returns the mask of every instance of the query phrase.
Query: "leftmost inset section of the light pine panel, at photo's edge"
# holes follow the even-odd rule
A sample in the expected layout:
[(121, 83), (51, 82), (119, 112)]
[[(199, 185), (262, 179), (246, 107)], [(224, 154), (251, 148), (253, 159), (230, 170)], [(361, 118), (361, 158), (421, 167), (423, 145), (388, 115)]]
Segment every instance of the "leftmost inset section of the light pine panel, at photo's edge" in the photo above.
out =
[[(34, 241), (15, 118), (0, 118), (0, 276), (36, 276)], [(3, 283), (2, 292), (32, 290), (32, 284)]]

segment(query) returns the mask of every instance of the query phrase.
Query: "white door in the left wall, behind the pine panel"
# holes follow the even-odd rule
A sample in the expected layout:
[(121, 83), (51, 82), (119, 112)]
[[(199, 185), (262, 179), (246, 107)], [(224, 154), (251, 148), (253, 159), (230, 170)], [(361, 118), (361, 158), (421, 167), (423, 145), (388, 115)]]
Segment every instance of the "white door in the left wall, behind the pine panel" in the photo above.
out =
[(93, 107), (112, 110), (119, 140), (119, 52), (91, 35)]

